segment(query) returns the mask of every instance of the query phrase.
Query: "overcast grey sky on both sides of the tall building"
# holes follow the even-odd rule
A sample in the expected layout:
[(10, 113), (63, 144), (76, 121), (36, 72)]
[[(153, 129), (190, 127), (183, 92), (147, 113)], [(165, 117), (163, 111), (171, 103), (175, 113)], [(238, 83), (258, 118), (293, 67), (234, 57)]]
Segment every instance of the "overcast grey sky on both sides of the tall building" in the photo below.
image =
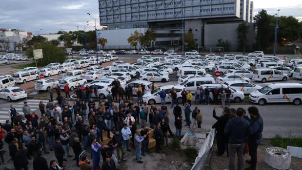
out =
[[(260, 9), (266, 9), (271, 15), (281, 9), (279, 15), (292, 15), (302, 21), (302, 0), (253, 0), (254, 15)], [(56, 33), (59, 30), (75, 31), (94, 29), (94, 19), (99, 22), (98, 0), (1, 0), (0, 28), (16, 28), (36, 34)]]

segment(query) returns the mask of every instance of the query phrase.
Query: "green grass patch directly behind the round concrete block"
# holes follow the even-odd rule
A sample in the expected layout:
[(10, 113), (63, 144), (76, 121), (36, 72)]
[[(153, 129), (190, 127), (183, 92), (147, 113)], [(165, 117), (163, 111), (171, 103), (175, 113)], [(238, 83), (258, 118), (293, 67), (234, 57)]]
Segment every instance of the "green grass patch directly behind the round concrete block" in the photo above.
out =
[(302, 137), (281, 137), (276, 135), (270, 139), (274, 147), (286, 149), (287, 146), (302, 147)]

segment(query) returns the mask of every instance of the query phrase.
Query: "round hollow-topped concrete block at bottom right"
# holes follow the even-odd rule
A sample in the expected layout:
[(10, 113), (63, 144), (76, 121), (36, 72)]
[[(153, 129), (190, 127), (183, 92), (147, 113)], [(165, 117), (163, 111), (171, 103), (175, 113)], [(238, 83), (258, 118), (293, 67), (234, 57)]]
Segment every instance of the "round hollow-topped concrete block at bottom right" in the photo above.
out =
[(277, 170), (288, 170), (291, 163), (291, 154), (279, 147), (266, 148), (265, 163)]

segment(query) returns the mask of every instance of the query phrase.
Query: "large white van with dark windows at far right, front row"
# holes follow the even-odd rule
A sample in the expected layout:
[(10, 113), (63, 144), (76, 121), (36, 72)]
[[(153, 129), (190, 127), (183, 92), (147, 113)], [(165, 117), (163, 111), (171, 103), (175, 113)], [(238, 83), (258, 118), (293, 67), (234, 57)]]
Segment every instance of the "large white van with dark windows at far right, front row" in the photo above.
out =
[(300, 83), (273, 83), (249, 95), (252, 103), (293, 103), (300, 105), (302, 101), (302, 84)]

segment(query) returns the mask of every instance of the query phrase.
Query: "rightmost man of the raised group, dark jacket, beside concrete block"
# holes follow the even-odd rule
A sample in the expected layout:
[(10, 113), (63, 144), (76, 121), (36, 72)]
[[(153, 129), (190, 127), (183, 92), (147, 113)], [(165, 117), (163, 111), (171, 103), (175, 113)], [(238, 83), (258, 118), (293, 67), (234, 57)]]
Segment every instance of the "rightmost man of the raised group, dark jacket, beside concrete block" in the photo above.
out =
[(258, 145), (262, 142), (263, 120), (255, 106), (249, 107), (247, 111), (251, 116), (248, 137), (248, 151), (249, 155), (251, 156), (251, 160), (246, 160), (246, 162), (250, 163), (251, 166), (245, 170), (256, 170), (257, 149)]

